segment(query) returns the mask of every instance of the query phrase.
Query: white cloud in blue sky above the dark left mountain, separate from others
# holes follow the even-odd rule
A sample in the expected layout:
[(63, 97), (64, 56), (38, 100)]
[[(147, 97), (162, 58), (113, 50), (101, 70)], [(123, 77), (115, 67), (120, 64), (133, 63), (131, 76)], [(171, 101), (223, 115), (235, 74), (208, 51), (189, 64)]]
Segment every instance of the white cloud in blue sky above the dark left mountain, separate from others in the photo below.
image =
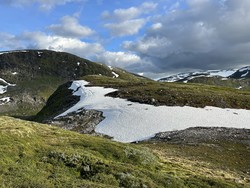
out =
[(49, 29), (63, 37), (82, 38), (94, 34), (92, 29), (82, 26), (77, 18), (72, 16), (62, 17), (60, 24), (53, 24)]

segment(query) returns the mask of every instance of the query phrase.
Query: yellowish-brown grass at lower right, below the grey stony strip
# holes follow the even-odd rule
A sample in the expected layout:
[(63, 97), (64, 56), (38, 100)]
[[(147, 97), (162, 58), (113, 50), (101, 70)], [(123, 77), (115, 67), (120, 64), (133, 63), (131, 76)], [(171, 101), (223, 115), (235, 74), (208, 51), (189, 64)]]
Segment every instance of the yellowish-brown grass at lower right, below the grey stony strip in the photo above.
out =
[[(179, 176), (190, 174), (213, 178), (231, 179), (250, 186), (249, 145), (240, 142), (211, 142), (195, 145), (173, 144), (167, 142), (142, 142), (151, 148), (171, 168), (166, 171)], [(181, 168), (184, 171), (180, 171)]]

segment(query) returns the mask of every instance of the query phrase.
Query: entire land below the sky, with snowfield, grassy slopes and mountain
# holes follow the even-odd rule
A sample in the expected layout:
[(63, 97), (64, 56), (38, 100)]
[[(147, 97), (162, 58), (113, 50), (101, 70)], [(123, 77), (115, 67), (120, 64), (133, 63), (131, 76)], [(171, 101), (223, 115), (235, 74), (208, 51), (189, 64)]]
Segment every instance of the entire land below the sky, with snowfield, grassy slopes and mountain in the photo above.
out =
[(0, 70), (4, 187), (250, 186), (248, 77), (157, 82), (49, 50)]

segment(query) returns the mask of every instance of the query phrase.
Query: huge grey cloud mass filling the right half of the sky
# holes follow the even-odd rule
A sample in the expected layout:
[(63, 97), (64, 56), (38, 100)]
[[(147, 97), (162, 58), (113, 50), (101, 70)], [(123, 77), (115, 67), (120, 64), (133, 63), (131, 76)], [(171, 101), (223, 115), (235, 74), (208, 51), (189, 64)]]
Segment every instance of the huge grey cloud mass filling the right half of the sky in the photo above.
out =
[[(160, 72), (240, 67), (250, 60), (250, 1), (184, 0), (123, 47)], [(150, 71), (150, 70), (144, 70)]]

